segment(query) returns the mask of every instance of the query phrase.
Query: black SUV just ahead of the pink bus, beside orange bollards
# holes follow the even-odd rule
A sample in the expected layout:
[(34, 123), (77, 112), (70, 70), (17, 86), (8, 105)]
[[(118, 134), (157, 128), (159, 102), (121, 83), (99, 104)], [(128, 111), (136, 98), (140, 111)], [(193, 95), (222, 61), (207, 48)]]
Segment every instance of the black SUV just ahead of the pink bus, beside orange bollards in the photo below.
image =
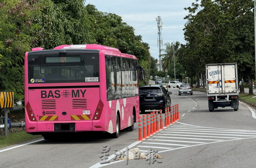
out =
[(171, 106), (170, 94), (162, 85), (147, 85), (140, 87), (140, 111), (145, 110), (160, 110), (163, 113), (165, 108)]

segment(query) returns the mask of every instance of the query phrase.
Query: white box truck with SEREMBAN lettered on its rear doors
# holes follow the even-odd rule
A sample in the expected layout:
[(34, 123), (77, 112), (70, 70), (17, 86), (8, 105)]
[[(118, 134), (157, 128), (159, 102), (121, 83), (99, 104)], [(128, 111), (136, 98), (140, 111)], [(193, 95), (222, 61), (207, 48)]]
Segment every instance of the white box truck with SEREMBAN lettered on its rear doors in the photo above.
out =
[(209, 111), (218, 107), (238, 110), (237, 63), (206, 64), (206, 89)]

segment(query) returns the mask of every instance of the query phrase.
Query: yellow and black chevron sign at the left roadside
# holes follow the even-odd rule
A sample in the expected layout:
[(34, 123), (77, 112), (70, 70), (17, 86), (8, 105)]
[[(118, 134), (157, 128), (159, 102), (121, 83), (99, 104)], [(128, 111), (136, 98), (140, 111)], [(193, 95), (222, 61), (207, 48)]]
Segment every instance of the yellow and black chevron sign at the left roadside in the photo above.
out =
[(13, 92), (0, 92), (0, 109), (13, 107)]

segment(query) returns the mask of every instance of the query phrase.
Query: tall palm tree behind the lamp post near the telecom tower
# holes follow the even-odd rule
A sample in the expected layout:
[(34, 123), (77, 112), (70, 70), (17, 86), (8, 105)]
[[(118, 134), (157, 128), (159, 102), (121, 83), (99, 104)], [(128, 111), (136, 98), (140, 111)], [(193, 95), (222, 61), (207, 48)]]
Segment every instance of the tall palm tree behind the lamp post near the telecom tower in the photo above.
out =
[[(166, 49), (161, 49), (161, 52), (164, 54), (161, 54), (160, 57), (164, 57), (162, 59), (162, 69), (167, 70), (169, 68), (169, 65), (171, 62), (174, 60), (173, 53), (176, 53), (177, 50), (180, 47), (180, 42), (176, 41), (175, 45), (173, 46), (174, 42), (170, 44), (169, 42), (165, 43), (164, 46)], [(174, 47), (174, 52), (173, 52), (173, 47)]]

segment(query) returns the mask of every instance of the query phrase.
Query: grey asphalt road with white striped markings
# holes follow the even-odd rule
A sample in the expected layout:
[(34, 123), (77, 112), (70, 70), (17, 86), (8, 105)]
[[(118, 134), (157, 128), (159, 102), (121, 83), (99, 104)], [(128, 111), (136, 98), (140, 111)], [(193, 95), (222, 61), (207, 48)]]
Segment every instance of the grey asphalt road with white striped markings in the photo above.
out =
[[(137, 141), (138, 123), (117, 139), (85, 134), (72, 140), (68, 135), (63, 139), (71, 140), (41, 140), (3, 152), (10, 147), (1, 148), (0, 167), (255, 167), (256, 120), (247, 106), (240, 103), (238, 111), (219, 107), (209, 112), (205, 93), (178, 96), (178, 88), (169, 91), (172, 105), (179, 104), (180, 120), (143, 141)], [(110, 158), (127, 146), (142, 152), (151, 147), (163, 157), (157, 159), (162, 163), (141, 159), (126, 165), (111, 159), (103, 165), (99, 162), (104, 145), (110, 147)]]

